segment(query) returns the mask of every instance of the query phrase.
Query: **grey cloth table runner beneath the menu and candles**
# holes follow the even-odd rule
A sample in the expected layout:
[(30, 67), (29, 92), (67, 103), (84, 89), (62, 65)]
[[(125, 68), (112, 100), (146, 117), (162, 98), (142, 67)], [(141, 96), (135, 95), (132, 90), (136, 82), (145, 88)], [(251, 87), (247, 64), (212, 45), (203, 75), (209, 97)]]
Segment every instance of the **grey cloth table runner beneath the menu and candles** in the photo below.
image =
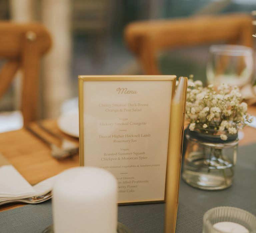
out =
[[(256, 144), (239, 147), (234, 184), (222, 191), (203, 191), (180, 183), (177, 233), (202, 232), (205, 211), (234, 206), (256, 215)], [(134, 233), (163, 232), (164, 204), (120, 206), (119, 222)], [(51, 201), (0, 212), (0, 232), (41, 232), (52, 224)]]

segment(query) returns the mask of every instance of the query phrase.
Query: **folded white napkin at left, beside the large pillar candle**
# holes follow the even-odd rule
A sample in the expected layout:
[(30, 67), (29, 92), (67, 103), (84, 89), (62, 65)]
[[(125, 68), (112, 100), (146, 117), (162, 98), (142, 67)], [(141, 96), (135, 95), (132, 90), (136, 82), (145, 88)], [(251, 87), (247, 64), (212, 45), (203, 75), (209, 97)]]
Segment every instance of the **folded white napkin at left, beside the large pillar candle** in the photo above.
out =
[[(1, 160), (2, 159), (2, 160)], [(0, 202), (5, 200), (41, 196), (52, 190), (56, 176), (50, 177), (38, 184), (30, 185), (11, 164), (6, 164), (0, 154)]]

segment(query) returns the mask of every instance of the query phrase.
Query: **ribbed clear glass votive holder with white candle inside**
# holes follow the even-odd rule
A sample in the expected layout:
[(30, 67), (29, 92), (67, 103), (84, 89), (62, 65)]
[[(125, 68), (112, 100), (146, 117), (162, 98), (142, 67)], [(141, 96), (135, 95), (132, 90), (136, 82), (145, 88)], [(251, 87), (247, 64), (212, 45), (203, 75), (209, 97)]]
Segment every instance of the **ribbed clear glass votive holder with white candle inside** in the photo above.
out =
[(239, 208), (220, 206), (204, 213), (203, 233), (256, 233), (256, 217)]

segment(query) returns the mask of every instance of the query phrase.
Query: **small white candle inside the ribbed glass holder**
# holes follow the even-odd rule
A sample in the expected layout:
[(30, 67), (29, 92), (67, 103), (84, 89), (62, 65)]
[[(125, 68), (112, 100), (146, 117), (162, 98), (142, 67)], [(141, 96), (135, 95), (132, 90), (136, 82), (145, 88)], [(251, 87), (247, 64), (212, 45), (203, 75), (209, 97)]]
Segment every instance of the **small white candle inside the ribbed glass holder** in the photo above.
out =
[(213, 228), (227, 233), (249, 233), (247, 228), (235, 222), (217, 222)]

